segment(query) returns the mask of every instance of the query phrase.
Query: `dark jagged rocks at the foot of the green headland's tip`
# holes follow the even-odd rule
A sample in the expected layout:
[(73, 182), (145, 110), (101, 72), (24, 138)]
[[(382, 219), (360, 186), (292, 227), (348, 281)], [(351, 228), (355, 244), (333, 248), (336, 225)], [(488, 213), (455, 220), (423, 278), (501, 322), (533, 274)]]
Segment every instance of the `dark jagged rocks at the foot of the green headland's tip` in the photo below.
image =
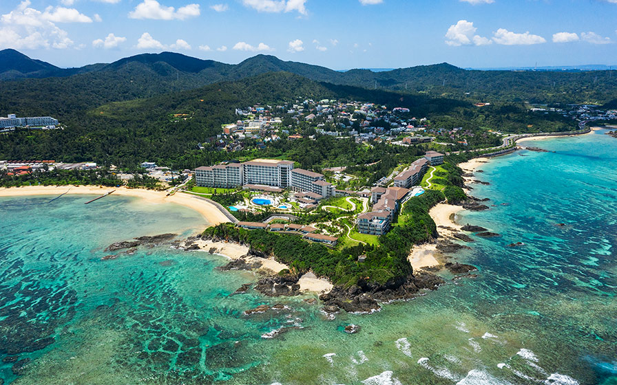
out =
[(326, 313), (340, 309), (353, 313), (370, 313), (380, 308), (379, 303), (404, 300), (417, 296), (421, 289), (436, 289), (443, 279), (428, 272), (416, 272), (408, 278), (398, 278), (384, 285), (360, 281), (358, 285), (345, 288), (335, 286), (331, 292), (322, 294)]

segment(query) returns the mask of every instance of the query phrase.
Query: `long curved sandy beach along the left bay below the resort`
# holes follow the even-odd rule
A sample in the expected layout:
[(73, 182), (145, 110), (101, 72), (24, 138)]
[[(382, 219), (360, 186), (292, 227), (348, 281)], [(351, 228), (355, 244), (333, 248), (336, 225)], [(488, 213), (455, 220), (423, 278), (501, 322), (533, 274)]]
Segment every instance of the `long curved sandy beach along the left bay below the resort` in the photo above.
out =
[(105, 192), (115, 190), (112, 194), (125, 197), (138, 197), (146, 203), (162, 204), (176, 203), (199, 212), (204, 217), (207, 225), (218, 225), (219, 223), (229, 222), (216, 206), (208, 201), (194, 197), (193, 195), (176, 193), (167, 197), (165, 191), (145, 190), (141, 188), (125, 187), (103, 187), (103, 186), (23, 186), (12, 188), (0, 188), (0, 197), (29, 197), (35, 195), (61, 195), (68, 194), (80, 195), (103, 195)]

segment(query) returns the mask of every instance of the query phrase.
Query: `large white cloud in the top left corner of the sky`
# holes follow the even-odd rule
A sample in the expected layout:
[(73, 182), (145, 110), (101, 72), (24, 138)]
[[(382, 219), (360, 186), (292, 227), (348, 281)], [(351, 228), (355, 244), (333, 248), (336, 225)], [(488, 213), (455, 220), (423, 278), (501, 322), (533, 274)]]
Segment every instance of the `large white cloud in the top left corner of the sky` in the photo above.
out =
[(2, 14), (0, 17), (0, 48), (36, 50), (74, 47), (67, 32), (58, 28), (44, 15), (44, 12), (30, 8), (29, 0), (21, 1), (14, 10)]

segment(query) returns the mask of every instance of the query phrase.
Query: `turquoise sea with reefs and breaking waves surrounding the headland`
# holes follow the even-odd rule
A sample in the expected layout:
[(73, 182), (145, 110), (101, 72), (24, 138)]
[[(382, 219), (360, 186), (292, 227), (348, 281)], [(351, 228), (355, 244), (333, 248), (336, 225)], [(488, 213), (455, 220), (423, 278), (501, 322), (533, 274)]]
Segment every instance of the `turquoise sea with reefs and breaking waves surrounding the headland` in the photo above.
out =
[[(29, 206), (50, 197), (0, 199), (0, 358), (32, 360), (19, 376), (12, 363), (0, 364), (0, 377), (12, 384), (616, 384), (617, 140), (596, 133), (534, 145), (556, 153), (515, 153), (477, 173), (491, 185), (474, 185), (473, 194), (495, 206), (460, 221), (501, 234), (474, 236), (472, 250), (453, 256), (477, 265), (477, 278), (444, 274), (447, 284), (436, 292), (333, 320), (303, 301), (311, 295), (232, 295), (258, 277), (218, 272), (225, 259), (205, 252), (145, 248), (101, 261), (114, 241), (194, 234), (202, 219), (184, 208), (124, 197), (88, 206), (86, 197), (67, 195)], [(507, 246), (518, 241), (525, 245)], [(276, 303), (286, 307), (243, 314)], [(344, 333), (351, 323), (359, 333)]]

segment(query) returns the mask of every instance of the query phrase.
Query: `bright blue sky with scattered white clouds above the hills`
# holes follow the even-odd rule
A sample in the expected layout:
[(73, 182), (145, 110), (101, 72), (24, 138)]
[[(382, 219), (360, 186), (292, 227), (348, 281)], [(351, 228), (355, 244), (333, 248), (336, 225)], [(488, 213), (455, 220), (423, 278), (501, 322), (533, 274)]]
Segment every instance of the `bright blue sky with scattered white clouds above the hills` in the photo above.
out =
[(617, 0), (0, 0), (0, 49), (59, 67), (179, 52), (332, 69), (617, 65)]

